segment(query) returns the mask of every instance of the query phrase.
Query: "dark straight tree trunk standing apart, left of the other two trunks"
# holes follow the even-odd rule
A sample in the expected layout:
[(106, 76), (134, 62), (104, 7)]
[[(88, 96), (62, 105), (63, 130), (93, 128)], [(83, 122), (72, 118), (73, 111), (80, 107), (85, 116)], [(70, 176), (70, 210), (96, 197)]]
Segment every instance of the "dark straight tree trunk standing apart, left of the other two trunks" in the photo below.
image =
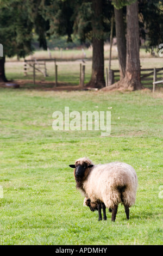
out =
[(87, 86), (102, 88), (104, 79), (104, 38), (102, 31), (102, 0), (92, 0), (92, 75)]

